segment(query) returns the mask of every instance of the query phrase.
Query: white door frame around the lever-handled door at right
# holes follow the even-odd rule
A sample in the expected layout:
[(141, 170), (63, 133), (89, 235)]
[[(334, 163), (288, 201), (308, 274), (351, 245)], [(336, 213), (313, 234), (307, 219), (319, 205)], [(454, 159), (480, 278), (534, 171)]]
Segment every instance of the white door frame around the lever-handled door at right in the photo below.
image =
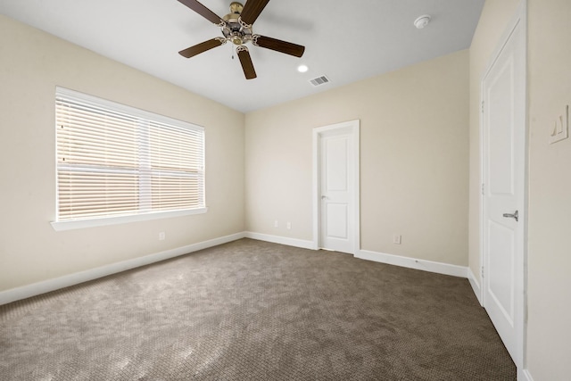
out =
[[(512, 33), (517, 27), (521, 28), (521, 37), (524, 38), (523, 44), (523, 56), (525, 57), (523, 62), (523, 76), (524, 76), (524, 98), (525, 104), (523, 104), (523, 110), (520, 110), (523, 114), (521, 115), (523, 122), (523, 126), (519, 126), (520, 128), (525, 128), (524, 130), (524, 139), (522, 142), (522, 152), (523, 156), (521, 160), (524, 161), (524, 170), (523, 170), (523, 181), (522, 186), (519, 189), (519, 192), (522, 193), (522, 205), (521, 208), (518, 210), (520, 211), (520, 222), (521, 222), (521, 229), (520, 229), (520, 241), (517, 244), (519, 250), (516, 253), (516, 272), (514, 274), (514, 283), (516, 289), (516, 301), (514, 302), (514, 322), (516, 326), (516, 334), (517, 334), (517, 348), (516, 348), (516, 358), (513, 359), (514, 363), (517, 367), (518, 378), (519, 375), (523, 374), (523, 371), (526, 367), (525, 361), (525, 344), (526, 344), (526, 311), (527, 311), (527, 204), (528, 204), (528, 192), (527, 192), (527, 185), (528, 185), (528, 157), (529, 157), (529, 150), (528, 150), (528, 115), (527, 115), (527, 4), (526, 0), (522, 0), (520, 4), (517, 6), (517, 11), (515, 12), (514, 16), (512, 17), (511, 21), (509, 21), (507, 29), (504, 31), (501, 39), (499, 40), (498, 46), (493, 51), (491, 55), (491, 60), (486, 66), (484, 70), (484, 75), (480, 79), (480, 104), (484, 104), (484, 81), (490, 74), (494, 63), (499, 58), (504, 46), (508, 43), (509, 38), (511, 37)], [(484, 165), (484, 153), (486, 152), (484, 143), (485, 143), (485, 134), (484, 134), (484, 106), (480, 109), (480, 186), (482, 186), (482, 191), (480, 192), (480, 302), (481, 305), (484, 307), (484, 298), (486, 297), (487, 292), (487, 285), (484, 280), (485, 278), (485, 269), (484, 264), (487, 263), (487, 252), (484, 247), (484, 229), (485, 229), (485, 196), (484, 196), (484, 179), (486, 178), (486, 168)]]

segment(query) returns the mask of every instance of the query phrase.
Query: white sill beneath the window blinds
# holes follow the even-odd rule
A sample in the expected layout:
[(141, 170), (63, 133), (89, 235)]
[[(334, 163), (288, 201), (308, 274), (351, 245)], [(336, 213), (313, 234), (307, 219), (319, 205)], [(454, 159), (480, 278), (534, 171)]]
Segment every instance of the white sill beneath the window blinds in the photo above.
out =
[(172, 217), (203, 214), (208, 208), (187, 209), (185, 211), (155, 211), (152, 213), (135, 214), (130, 216), (102, 217), (96, 219), (73, 219), (69, 221), (50, 222), (55, 231), (72, 230), (79, 228), (95, 228), (109, 225), (127, 224), (129, 222), (148, 221), (151, 219), (170, 219)]

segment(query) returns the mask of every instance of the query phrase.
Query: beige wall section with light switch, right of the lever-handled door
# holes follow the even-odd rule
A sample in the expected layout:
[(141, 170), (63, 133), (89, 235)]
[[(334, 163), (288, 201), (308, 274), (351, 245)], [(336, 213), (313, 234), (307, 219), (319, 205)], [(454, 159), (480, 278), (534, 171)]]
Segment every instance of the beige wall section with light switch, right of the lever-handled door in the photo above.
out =
[(571, 2), (528, 0), (528, 368), (535, 381), (569, 379), (571, 139), (548, 144), (571, 104)]

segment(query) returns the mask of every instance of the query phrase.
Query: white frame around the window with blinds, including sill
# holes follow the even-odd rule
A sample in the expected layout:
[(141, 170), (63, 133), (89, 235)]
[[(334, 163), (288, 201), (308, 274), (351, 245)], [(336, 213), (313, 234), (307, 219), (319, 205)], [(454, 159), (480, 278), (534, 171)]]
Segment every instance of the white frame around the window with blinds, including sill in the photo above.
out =
[[(116, 225), (116, 224), (124, 224), (136, 221), (144, 221), (144, 220), (151, 220), (151, 219), (166, 219), (166, 218), (173, 218), (173, 217), (180, 217), (180, 216), (188, 216), (194, 214), (203, 214), (208, 211), (208, 207), (206, 206), (206, 169), (205, 169), (205, 156), (206, 156), (206, 138), (205, 138), (205, 131), (202, 126), (195, 125), (193, 123), (189, 123), (183, 120), (176, 120), (164, 115), (156, 114), (154, 112), (147, 112), (145, 110), (137, 109), (135, 107), (131, 107), (125, 104), (119, 104), (116, 102), (112, 102), (106, 99), (99, 98), (94, 95), (87, 95), (84, 93), (79, 93), (78, 91), (70, 90), (64, 87), (56, 87), (55, 89), (55, 98), (56, 100), (58, 97), (67, 97), (70, 100), (78, 101), (78, 102), (85, 102), (87, 104), (93, 104), (96, 107), (103, 108), (109, 110), (111, 112), (118, 112), (124, 113), (131, 117), (145, 120), (151, 123), (158, 123), (158, 124), (166, 124), (175, 128), (188, 128), (194, 131), (198, 131), (202, 134), (203, 137), (203, 170), (202, 170), (202, 199), (203, 199), (203, 206), (199, 206), (196, 208), (188, 208), (188, 209), (177, 209), (177, 210), (170, 210), (170, 211), (141, 211), (138, 209), (138, 212), (130, 212), (120, 215), (113, 215), (113, 216), (92, 216), (92, 217), (85, 217), (79, 219), (63, 219), (59, 220), (59, 180), (58, 180), (58, 173), (60, 169), (60, 165), (58, 163), (58, 145), (57, 145), (57, 128), (58, 123), (57, 121), (54, 122), (55, 128), (55, 220), (50, 222), (54, 230), (69, 230), (69, 229), (76, 229), (76, 228), (92, 228), (92, 227), (100, 227), (100, 226), (108, 226), (108, 225)], [(55, 109), (54, 109), (55, 111)], [(54, 114), (54, 120), (56, 120), (56, 114)], [(140, 162), (139, 162), (140, 165)], [(139, 167), (140, 168), (140, 167)], [(140, 206), (140, 205), (139, 205)]]

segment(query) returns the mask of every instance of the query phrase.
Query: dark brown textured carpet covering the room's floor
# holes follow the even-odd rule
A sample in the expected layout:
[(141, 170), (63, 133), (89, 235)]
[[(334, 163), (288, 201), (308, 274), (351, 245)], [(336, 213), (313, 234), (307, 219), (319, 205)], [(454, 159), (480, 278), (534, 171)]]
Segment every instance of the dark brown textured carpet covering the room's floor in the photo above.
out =
[(0, 380), (515, 380), (467, 279), (250, 239), (0, 306)]

